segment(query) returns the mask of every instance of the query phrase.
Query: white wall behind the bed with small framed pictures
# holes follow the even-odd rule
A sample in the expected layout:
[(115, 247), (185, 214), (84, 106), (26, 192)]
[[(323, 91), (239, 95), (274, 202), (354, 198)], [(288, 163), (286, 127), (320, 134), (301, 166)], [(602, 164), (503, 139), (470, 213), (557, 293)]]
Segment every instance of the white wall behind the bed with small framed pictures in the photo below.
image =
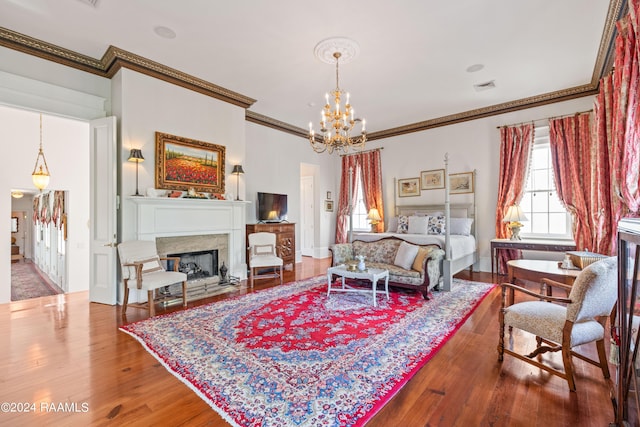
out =
[[(477, 170), (475, 182), (478, 210), (477, 230), (480, 252), (479, 269), (491, 271), (490, 240), (495, 237), (495, 211), (498, 199), (500, 132), (498, 126), (544, 119), (589, 110), (593, 97), (579, 98), (513, 113), (463, 122), (423, 132), (374, 141), (369, 148), (383, 146), (385, 216), (393, 216), (393, 178), (419, 177), (420, 172), (444, 167), (449, 153), (449, 173)], [(468, 203), (471, 195), (451, 195), (451, 203)], [(418, 197), (398, 198), (398, 204), (443, 203), (443, 190), (422, 190)], [(478, 266), (476, 266), (478, 267)]]

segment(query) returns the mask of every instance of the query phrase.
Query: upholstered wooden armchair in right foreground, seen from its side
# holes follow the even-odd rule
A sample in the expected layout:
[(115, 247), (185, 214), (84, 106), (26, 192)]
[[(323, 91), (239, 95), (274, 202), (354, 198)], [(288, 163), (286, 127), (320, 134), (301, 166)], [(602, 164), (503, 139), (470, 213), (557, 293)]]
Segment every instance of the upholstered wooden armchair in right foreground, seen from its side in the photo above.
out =
[[(511, 283), (503, 283), (502, 307), (500, 309), (500, 339), (498, 360), (509, 354), (531, 363), (553, 375), (564, 378), (571, 391), (576, 390), (572, 357), (575, 356), (592, 365), (600, 367), (605, 379), (609, 378), (609, 365), (605, 354), (605, 325), (611, 315), (617, 299), (617, 259), (605, 258), (595, 262), (578, 274), (568, 297), (553, 297), (545, 286), (557, 286), (567, 289), (567, 285), (543, 279), (540, 294)], [(522, 292), (539, 298), (538, 301), (525, 301), (509, 305), (507, 291)], [(561, 305), (558, 303), (563, 303)], [(516, 353), (505, 347), (505, 327), (517, 328), (536, 336), (536, 349), (527, 355)], [(594, 342), (598, 351), (598, 360), (590, 359), (574, 352), (572, 348)], [(543, 345), (544, 344), (544, 345)], [(562, 352), (564, 372), (542, 363), (541, 355), (546, 352)]]

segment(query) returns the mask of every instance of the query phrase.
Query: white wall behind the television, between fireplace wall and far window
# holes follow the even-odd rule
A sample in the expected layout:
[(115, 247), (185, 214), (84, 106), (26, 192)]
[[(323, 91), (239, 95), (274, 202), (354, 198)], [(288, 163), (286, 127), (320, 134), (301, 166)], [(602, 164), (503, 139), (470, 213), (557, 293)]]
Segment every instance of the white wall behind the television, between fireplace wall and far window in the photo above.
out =
[[(324, 211), (324, 199), (327, 191), (331, 191), (332, 200), (337, 200), (340, 186), (340, 156), (317, 154), (311, 149), (307, 139), (265, 126), (247, 122), (246, 129), (247, 154), (243, 164), (245, 174), (240, 178), (240, 182), (246, 182), (246, 200), (252, 202), (247, 222), (256, 221), (257, 193), (267, 192), (287, 194), (288, 220), (299, 223), (300, 176), (303, 172), (317, 170), (318, 173), (314, 176), (317, 206), (314, 253), (318, 257), (328, 256), (328, 248), (335, 242), (336, 212), (335, 207), (333, 212)], [(310, 165), (317, 168), (309, 167)], [(296, 261), (301, 260), (299, 242), (300, 230), (296, 226)]]

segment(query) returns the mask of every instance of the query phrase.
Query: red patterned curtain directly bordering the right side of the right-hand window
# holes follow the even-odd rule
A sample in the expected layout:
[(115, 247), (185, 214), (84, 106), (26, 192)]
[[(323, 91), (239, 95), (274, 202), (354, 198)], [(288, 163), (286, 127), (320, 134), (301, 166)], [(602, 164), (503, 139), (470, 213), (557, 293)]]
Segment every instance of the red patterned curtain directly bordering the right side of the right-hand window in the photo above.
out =
[[(573, 216), (573, 237), (578, 250), (595, 250), (600, 245), (593, 213), (600, 211), (599, 197), (609, 193), (601, 186), (608, 177), (606, 153), (599, 159), (592, 142), (590, 114), (549, 120), (549, 142), (558, 198)], [(603, 171), (604, 169), (604, 171)], [(608, 181), (608, 179), (606, 180)], [(576, 185), (581, 183), (582, 185)]]

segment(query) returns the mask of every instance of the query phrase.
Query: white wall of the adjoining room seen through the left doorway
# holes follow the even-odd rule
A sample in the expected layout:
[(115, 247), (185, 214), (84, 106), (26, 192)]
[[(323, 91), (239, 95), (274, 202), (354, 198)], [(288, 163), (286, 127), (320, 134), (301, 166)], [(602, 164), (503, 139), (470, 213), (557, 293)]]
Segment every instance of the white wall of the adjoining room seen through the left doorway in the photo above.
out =
[[(43, 115), (43, 149), (51, 173), (48, 189), (69, 192), (67, 257), (69, 292), (88, 289), (89, 277), (89, 124)], [(11, 216), (11, 189), (37, 191), (31, 172), (40, 144), (39, 114), (0, 105), (0, 217)], [(11, 300), (10, 228), (0, 227), (0, 303)]]

